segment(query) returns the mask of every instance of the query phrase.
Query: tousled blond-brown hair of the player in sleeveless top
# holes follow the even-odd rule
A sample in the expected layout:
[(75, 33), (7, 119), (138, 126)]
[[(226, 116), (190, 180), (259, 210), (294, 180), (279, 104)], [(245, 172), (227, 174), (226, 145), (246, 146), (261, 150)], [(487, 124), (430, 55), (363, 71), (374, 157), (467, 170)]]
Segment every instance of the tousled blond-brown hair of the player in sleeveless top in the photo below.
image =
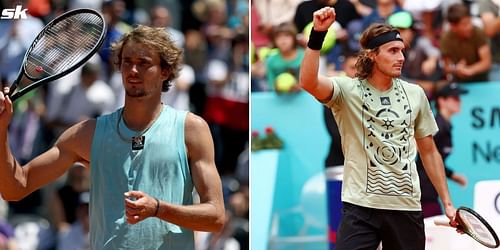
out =
[(164, 28), (138, 25), (132, 31), (123, 35), (118, 42), (111, 45), (113, 63), (118, 68), (122, 63), (123, 46), (130, 40), (145, 44), (160, 54), (161, 68), (169, 72), (168, 79), (163, 81), (162, 85), (162, 92), (167, 92), (172, 86), (172, 81), (179, 76), (182, 66), (182, 49), (175, 46), (172, 38)]

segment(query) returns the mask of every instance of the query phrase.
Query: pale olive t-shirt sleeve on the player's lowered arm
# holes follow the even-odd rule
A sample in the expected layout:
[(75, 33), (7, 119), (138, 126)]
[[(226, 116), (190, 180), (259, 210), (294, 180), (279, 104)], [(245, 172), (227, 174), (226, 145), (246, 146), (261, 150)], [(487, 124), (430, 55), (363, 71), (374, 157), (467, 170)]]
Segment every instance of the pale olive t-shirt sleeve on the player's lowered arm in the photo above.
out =
[(434, 135), (438, 131), (438, 126), (429, 104), (429, 100), (425, 96), (424, 90), (419, 90), (419, 104), (417, 117), (415, 119), (415, 138), (423, 138), (429, 135)]

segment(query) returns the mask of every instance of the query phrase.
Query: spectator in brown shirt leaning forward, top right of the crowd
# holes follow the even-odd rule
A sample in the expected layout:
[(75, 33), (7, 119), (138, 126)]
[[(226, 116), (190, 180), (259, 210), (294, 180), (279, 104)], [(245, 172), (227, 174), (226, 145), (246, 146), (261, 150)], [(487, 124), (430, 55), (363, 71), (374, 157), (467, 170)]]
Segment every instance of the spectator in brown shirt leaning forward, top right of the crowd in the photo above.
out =
[(446, 19), (450, 30), (442, 35), (440, 47), (448, 80), (487, 81), (491, 50), (486, 34), (472, 24), (469, 9), (462, 3), (451, 5)]

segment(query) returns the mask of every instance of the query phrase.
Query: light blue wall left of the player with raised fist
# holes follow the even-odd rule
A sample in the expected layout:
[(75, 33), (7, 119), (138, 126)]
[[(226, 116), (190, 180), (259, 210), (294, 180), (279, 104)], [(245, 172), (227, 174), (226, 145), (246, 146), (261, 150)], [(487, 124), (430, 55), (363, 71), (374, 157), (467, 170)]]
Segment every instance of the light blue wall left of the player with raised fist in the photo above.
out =
[[(323, 170), (329, 136), (323, 122), (322, 105), (305, 92), (290, 95), (252, 93), (252, 131), (264, 134), (271, 126), (284, 141), (279, 171), (275, 209), (283, 209), (299, 202), (300, 190), (305, 181)], [(258, 181), (258, 180), (253, 180)]]

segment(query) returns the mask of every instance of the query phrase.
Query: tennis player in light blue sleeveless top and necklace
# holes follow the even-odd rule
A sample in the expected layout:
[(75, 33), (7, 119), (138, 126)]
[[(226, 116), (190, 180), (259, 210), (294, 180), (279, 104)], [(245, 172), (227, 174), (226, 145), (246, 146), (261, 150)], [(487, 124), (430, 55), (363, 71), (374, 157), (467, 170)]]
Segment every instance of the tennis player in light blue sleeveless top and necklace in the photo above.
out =
[(224, 205), (207, 123), (161, 103), (178, 75), (181, 50), (165, 29), (139, 26), (113, 52), (124, 107), (74, 125), (24, 166), (8, 146), (9, 89), (0, 93), (0, 193), (20, 200), (81, 162), (91, 173), (91, 249), (193, 250), (193, 230), (222, 229)]

